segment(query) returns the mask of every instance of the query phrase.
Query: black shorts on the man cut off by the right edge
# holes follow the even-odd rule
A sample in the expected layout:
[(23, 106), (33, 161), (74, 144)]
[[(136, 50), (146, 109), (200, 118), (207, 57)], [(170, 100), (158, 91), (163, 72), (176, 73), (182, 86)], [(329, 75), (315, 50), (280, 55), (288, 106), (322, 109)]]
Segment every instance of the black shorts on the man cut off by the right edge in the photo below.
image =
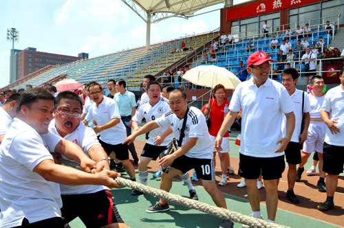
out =
[(323, 144), (323, 172), (339, 175), (343, 172), (344, 146)]

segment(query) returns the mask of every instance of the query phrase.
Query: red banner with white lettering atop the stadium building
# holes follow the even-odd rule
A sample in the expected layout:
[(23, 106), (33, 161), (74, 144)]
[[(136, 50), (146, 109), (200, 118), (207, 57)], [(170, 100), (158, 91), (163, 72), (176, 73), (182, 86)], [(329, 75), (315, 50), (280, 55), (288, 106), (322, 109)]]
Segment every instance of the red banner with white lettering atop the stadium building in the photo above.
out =
[(266, 0), (250, 5), (244, 5), (239, 8), (229, 8), (227, 10), (227, 21), (243, 19), (259, 14), (275, 12), (286, 8), (294, 8), (300, 5), (306, 5), (319, 0)]

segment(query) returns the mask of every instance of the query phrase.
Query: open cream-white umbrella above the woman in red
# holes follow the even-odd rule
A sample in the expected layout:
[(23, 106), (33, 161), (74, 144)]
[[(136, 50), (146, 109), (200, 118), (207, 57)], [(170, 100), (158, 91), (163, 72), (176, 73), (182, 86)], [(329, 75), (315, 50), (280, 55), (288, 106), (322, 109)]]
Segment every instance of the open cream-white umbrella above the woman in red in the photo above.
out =
[(223, 84), (226, 89), (235, 89), (241, 82), (237, 76), (226, 68), (214, 65), (202, 65), (186, 71), (183, 79), (202, 87), (211, 87), (212, 89), (217, 84)]

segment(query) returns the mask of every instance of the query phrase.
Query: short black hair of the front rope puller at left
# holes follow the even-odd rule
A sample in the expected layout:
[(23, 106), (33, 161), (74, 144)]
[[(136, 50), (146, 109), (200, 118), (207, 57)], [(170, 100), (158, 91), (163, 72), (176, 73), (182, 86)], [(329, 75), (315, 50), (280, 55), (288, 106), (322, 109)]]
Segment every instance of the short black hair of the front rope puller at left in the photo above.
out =
[(52, 100), (55, 102), (55, 97), (52, 93), (49, 93), (46, 89), (43, 88), (34, 88), (29, 91), (21, 93), (21, 96), (18, 100), (17, 105), (17, 115), (21, 112), (21, 106), (25, 105), (31, 109), (31, 105), (37, 100)]

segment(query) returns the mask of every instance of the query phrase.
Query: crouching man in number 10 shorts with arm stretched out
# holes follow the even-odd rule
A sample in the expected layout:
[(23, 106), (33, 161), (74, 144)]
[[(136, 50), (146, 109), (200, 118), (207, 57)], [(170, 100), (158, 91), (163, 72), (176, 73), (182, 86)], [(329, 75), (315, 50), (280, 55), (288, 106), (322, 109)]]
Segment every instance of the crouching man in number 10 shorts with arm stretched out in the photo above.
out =
[[(158, 161), (162, 168), (171, 168), (168, 173), (162, 173), (160, 189), (169, 192), (174, 176), (189, 172), (189, 170), (195, 168), (197, 178), (202, 180), (203, 187), (211, 195), (217, 207), (227, 208), (224, 194), (217, 189), (215, 184), (213, 144), (203, 113), (195, 107), (188, 108), (186, 93), (182, 89), (171, 91), (169, 94), (169, 106), (171, 111), (142, 126), (140, 130), (127, 137), (123, 144), (131, 143), (138, 135), (156, 128), (171, 126), (175, 138), (178, 140), (182, 138), (182, 142), (179, 142), (181, 147), (173, 152), (172, 155), (166, 155)], [(186, 122), (184, 118), (186, 118)], [(180, 134), (182, 134), (182, 137), (180, 137)], [(148, 213), (166, 211), (169, 211), (169, 204), (164, 198), (160, 198), (159, 203), (146, 210)], [(222, 220), (219, 227), (233, 227), (233, 222)]]

